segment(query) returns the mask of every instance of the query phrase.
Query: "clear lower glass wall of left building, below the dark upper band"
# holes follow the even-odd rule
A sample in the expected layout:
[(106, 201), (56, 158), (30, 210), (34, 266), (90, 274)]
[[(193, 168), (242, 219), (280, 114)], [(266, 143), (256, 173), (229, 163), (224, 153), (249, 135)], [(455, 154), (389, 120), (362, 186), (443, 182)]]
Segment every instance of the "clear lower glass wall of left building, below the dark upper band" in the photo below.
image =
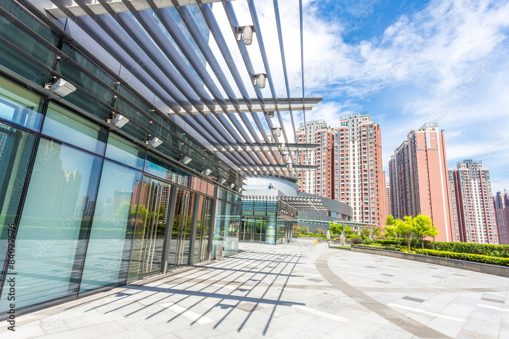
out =
[(0, 160), (21, 313), (238, 253), (239, 195), (3, 77)]

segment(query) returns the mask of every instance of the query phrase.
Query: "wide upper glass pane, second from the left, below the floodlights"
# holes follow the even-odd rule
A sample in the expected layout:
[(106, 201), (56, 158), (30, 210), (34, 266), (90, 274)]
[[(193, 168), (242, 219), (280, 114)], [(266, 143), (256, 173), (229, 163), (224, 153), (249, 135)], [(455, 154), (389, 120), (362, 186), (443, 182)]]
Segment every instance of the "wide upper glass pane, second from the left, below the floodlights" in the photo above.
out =
[(53, 103), (48, 106), (42, 133), (99, 155), (104, 154), (106, 129)]

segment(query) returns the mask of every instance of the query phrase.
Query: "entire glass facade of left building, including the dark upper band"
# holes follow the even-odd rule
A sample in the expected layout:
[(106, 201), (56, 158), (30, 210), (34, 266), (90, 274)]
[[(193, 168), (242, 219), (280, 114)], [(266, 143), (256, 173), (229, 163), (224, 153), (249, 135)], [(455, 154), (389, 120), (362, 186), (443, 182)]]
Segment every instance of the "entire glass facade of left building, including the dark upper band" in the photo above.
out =
[[(10, 273), (25, 313), (210, 260), (218, 244), (237, 254), (240, 196), (217, 184), (231, 168), (51, 25), (0, 6), (14, 17), (0, 15), (0, 313)], [(59, 77), (77, 89), (54, 99), (43, 87)], [(129, 124), (106, 124), (112, 112)]]

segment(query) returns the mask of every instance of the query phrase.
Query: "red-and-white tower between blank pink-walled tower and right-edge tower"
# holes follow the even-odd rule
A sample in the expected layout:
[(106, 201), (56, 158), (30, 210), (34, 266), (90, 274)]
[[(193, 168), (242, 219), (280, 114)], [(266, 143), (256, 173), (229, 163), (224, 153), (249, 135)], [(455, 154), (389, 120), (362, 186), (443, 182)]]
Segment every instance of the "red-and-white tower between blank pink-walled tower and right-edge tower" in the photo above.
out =
[(456, 165), (449, 176), (454, 180), (455, 202), (451, 206), (458, 215), (459, 241), (498, 244), (490, 171), (482, 161), (471, 159)]

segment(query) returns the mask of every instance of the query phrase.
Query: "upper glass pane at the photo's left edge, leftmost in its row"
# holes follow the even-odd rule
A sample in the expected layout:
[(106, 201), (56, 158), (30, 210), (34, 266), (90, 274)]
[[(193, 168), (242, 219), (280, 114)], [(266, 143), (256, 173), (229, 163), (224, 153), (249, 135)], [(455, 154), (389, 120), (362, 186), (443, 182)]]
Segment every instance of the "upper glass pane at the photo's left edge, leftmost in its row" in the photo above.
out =
[(0, 77), (0, 118), (32, 130), (41, 127), (44, 99)]

